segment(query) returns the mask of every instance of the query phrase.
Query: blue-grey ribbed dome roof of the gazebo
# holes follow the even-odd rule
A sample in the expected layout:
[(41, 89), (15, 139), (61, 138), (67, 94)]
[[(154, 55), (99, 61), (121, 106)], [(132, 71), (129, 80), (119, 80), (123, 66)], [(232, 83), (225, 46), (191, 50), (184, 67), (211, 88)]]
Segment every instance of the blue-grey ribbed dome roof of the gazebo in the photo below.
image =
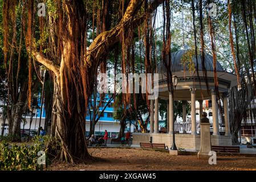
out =
[[(171, 54), (171, 71), (172, 72), (180, 72), (180, 71), (184, 71), (184, 60), (188, 59), (186, 58), (186, 53), (189, 51), (189, 49), (182, 49), (180, 51), (176, 51), (173, 52)], [(192, 56), (192, 60), (194, 63), (194, 68), (196, 68), (197, 65), (197, 61), (196, 61), (196, 56), (193, 55)], [(198, 60), (198, 71), (202, 71), (202, 63), (201, 63), (201, 56), (197, 56), (197, 60)], [(188, 60), (186, 60), (188, 61)], [(205, 53), (205, 68), (206, 71), (213, 71), (213, 56)], [(165, 65), (164, 63), (161, 61), (161, 63), (159, 63), (157, 65), (157, 73), (166, 73), (165, 70)], [(189, 70), (189, 64), (186, 63), (185, 64), (185, 71)], [(217, 61), (216, 63), (216, 70), (217, 72), (225, 72), (224, 68), (221, 66), (221, 64)]]

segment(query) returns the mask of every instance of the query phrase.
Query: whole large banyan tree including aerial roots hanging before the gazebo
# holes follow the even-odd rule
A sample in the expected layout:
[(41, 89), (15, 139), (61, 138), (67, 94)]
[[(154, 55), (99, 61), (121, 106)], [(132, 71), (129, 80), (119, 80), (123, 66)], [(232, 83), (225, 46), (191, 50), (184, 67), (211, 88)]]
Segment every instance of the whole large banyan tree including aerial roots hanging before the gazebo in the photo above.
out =
[[(46, 16), (43, 6), (38, 3), (46, 3)], [(180, 1), (177, 1), (180, 2)], [(192, 38), (194, 40), (194, 55), (202, 55), (202, 65), (204, 76), (207, 77), (206, 69), (204, 68), (205, 55), (205, 24), (208, 25), (210, 38), (210, 52), (214, 58), (214, 71), (216, 72), (216, 21), (209, 15), (206, 17), (206, 23), (203, 21), (204, 8), (210, 1), (192, 0), (182, 1), (192, 7), (193, 15)], [(156, 42), (155, 24), (156, 24), (156, 9), (160, 5), (162, 11), (162, 45), (161, 61), (164, 62), (168, 70), (169, 91), (172, 92), (172, 73), (171, 67), (171, 37), (170, 31), (170, 16), (172, 15), (172, 6), (176, 1), (170, 0), (5, 0), (3, 7), (3, 16), (5, 21), (8, 21), (7, 16), (14, 7), (22, 6), (22, 20), (17, 20), (18, 24), (22, 25), (23, 37), (25, 39), (25, 47), (29, 55), (29, 82), (28, 82), (28, 97), (31, 97), (31, 79), (32, 68), (36, 65), (44, 65), (50, 71), (52, 80), (54, 80), (54, 96), (52, 108), (52, 135), (61, 140), (62, 148), (60, 159), (74, 163), (77, 160), (86, 160), (90, 158), (86, 148), (85, 139), (85, 118), (88, 106), (88, 99), (91, 97), (94, 90), (95, 78), (97, 72), (105, 72), (107, 66), (107, 58), (110, 53), (115, 56), (115, 68), (118, 58), (118, 49), (121, 48), (121, 72), (135, 72), (135, 47), (143, 46), (143, 57), (145, 73), (153, 73), (157, 63), (155, 53)], [(225, 2), (222, 2), (225, 3)], [(229, 2), (226, 2), (226, 5)], [(251, 3), (251, 6), (249, 6)], [(250, 97), (247, 102), (250, 104), (255, 96), (255, 21), (256, 11), (255, 2), (253, 0), (239, 1), (239, 3), (231, 3), (229, 7), (229, 33), (230, 47), (234, 59), (234, 70), (238, 76), (242, 76), (243, 81), (240, 81), (241, 88), (233, 88), (230, 94), (230, 103), (237, 104), (234, 100), (238, 99), (238, 94), (243, 94), (244, 97)], [(253, 6), (254, 5), (254, 6)], [(238, 6), (238, 7), (237, 7)], [(243, 7), (243, 8), (239, 8)], [(206, 8), (205, 8), (206, 9)], [(251, 14), (246, 13), (246, 9), (250, 9)], [(38, 12), (39, 10), (39, 12)], [(241, 11), (242, 10), (242, 11)], [(40, 16), (39, 16), (40, 15)], [(197, 16), (198, 15), (198, 16)], [(239, 24), (240, 30), (245, 28), (246, 36), (242, 35), (247, 40), (249, 59), (245, 57), (240, 60), (241, 52), (239, 52), (239, 35), (235, 27), (235, 19), (241, 19), (243, 25)], [(199, 24), (196, 25), (198, 20)], [(4, 21), (4, 22), (5, 22)], [(160, 23), (160, 22), (158, 22)], [(15, 23), (14, 23), (15, 24)], [(237, 20), (238, 24), (238, 20)], [(5, 38), (7, 37), (9, 28), (8, 23), (5, 26)], [(15, 28), (15, 27), (13, 27)], [(90, 32), (90, 34), (88, 34)], [(244, 32), (243, 30), (241, 32)], [(235, 33), (233, 38), (232, 33)], [(139, 45), (135, 43), (135, 39), (139, 37)], [(7, 38), (6, 38), (7, 39)], [(233, 41), (233, 39), (235, 39)], [(143, 45), (141, 45), (143, 43)], [(243, 45), (245, 46), (245, 45)], [(7, 43), (5, 51), (7, 50)], [(140, 57), (141, 59), (141, 57)], [(197, 59), (197, 56), (196, 56)], [(35, 60), (34, 62), (32, 60)], [(243, 63), (242, 63), (243, 62)], [(248, 64), (249, 63), (249, 64)], [(32, 67), (32, 64), (35, 64)], [(243, 67), (244, 66), (244, 67)], [(197, 65), (196, 65), (197, 68)], [(243, 72), (245, 71), (245, 72)], [(35, 70), (37, 73), (37, 71)], [(243, 73), (242, 73), (243, 72)], [(246, 76), (245, 76), (246, 73)], [(243, 74), (243, 75), (242, 75)], [(197, 69), (193, 71), (193, 75), (198, 75)], [(250, 94), (246, 91), (249, 88), (245, 77), (249, 78)], [(251, 78), (251, 79), (250, 79)], [(207, 79), (206, 79), (207, 80)], [(217, 74), (214, 74), (214, 82), (218, 89)], [(206, 83), (207, 84), (207, 83)], [(254, 85), (254, 86), (253, 86)], [(242, 91), (241, 91), (242, 90)], [(233, 97), (231, 97), (233, 96)], [(133, 94), (135, 98), (135, 95)], [(147, 94), (145, 98), (147, 99)], [(123, 94), (124, 108), (131, 101), (131, 94)], [(29, 99), (30, 101), (30, 99)], [(136, 105), (136, 100), (133, 100)], [(245, 104), (239, 102), (240, 105), (233, 106), (235, 114), (239, 115), (245, 110)], [(30, 105), (30, 103), (29, 103)], [(147, 105), (150, 101), (147, 100)], [(230, 104), (231, 105), (231, 104)], [(231, 113), (234, 114), (234, 113)], [(243, 115), (245, 116), (245, 115)], [(233, 120), (232, 120), (233, 119)], [(231, 117), (234, 122), (233, 133), (237, 133), (240, 121)], [(238, 127), (237, 127), (238, 126)]]

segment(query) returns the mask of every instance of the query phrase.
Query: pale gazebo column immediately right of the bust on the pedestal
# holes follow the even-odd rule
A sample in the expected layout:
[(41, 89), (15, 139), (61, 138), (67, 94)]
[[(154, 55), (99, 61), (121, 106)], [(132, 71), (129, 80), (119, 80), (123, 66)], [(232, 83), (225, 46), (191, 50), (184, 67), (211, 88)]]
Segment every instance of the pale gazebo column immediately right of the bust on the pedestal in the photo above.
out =
[(211, 90), (211, 91), (212, 91), (211, 93), (212, 93), (212, 111), (213, 111), (213, 135), (220, 135), (216, 92), (214, 90)]

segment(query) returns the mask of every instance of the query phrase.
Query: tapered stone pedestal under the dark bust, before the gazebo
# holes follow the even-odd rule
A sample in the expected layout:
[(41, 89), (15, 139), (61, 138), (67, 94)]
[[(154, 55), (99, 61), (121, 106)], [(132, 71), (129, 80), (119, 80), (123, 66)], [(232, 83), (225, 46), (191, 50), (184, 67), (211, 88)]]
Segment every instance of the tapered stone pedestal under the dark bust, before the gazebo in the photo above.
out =
[(201, 146), (197, 156), (198, 159), (209, 159), (211, 151), (210, 143), (210, 123), (201, 123)]

